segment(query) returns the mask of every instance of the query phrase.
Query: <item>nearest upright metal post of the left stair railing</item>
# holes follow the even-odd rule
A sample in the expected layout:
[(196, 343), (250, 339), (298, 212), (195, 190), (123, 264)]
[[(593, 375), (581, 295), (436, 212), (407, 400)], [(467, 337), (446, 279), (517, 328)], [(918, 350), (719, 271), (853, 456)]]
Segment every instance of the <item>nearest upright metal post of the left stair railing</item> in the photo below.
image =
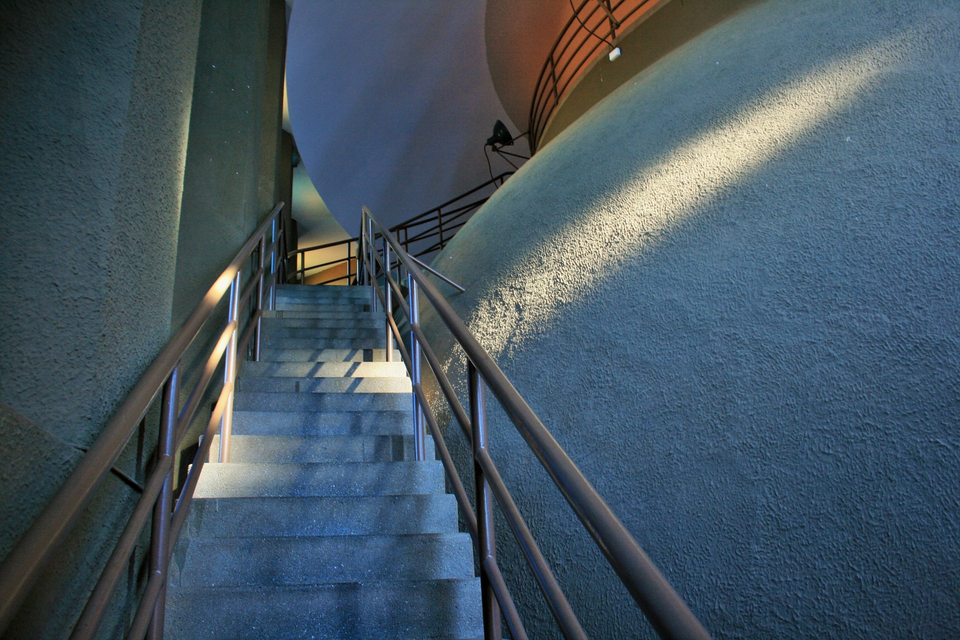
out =
[[(180, 413), (180, 363), (174, 367), (163, 385), (163, 394), (160, 405), (160, 429), (156, 439), (156, 460), (163, 456), (173, 456), (175, 434), (177, 432), (177, 416)], [(156, 598), (153, 618), (147, 629), (147, 640), (163, 640), (163, 614), (166, 609), (166, 572), (167, 549), (170, 546), (170, 518), (174, 505), (174, 472), (167, 473), (163, 481), (163, 488), (156, 498), (154, 505), (153, 532), (150, 536), (150, 573), (160, 574), (163, 586)]]

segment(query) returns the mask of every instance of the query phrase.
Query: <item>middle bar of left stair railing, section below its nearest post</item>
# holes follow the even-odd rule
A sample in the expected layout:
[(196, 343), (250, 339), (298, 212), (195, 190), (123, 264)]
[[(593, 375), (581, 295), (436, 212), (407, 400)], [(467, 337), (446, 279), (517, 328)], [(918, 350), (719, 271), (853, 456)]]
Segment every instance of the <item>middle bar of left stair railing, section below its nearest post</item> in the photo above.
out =
[(113, 553), (110, 554), (107, 564), (100, 572), (100, 578), (84, 605), (84, 611), (80, 614), (80, 620), (77, 621), (73, 632), (70, 634), (70, 640), (88, 640), (100, 627), (107, 605), (113, 595), (113, 588), (116, 586), (120, 575), (127, 570), (127, 561), (133, 552), (133, 547), (136, 545), (140, 532), (143, 531), (143, 526), (147, 524), (150, 510), (154, 507), (156, 496), (163, 488), (163, 483), (166, 482), (167, 474), (173, 467), (173, 463), (172, 456), (162, 456), (157, 462), (156, 468), (150, 474), (150, 480), (144, 487), (143, 495), (137, 500), (136, 506), (127, 520), (127, 526), (124, 527), (123, 533), (120, 534), (120, 538), (113, 548)]

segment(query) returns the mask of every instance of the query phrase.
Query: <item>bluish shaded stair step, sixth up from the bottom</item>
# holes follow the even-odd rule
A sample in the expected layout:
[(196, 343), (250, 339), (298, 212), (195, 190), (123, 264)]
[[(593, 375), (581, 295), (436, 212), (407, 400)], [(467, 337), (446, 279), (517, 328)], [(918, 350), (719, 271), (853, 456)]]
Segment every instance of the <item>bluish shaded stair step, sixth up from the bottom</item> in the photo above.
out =
[[(255, 405), (254, 405), (255, 406)], [(249, 436), (401, 436), (414, 433), (413, 409), (404, 411), (233, 412), (233, 433)]]

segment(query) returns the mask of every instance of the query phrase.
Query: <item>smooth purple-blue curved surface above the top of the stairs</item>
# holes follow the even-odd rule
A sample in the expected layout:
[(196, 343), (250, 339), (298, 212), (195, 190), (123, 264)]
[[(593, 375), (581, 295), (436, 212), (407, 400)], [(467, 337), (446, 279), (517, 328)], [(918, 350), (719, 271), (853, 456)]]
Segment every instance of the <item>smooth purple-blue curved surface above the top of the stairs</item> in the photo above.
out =
[[(493, 122), (516, 126), (488, 67), (485, 3), (299, 0), (287, 95), (304, 165), (333, 216), (396, 224), (489, 178)], [(492, 171), (509, 169), (492, 157)]]

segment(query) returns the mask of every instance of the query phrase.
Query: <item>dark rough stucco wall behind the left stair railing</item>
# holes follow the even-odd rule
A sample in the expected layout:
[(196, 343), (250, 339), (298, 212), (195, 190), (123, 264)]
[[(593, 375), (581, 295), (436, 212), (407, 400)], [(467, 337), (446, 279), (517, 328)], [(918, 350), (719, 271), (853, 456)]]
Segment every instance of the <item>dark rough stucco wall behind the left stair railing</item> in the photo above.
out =
[[(3, 555), (169, 337), (199, 26), (198, 0), (0, 5)], [(118, 462), (140, 480), (150, 441)], [(64, 637), (135, 496), (108, 477), (5, 638)]]

